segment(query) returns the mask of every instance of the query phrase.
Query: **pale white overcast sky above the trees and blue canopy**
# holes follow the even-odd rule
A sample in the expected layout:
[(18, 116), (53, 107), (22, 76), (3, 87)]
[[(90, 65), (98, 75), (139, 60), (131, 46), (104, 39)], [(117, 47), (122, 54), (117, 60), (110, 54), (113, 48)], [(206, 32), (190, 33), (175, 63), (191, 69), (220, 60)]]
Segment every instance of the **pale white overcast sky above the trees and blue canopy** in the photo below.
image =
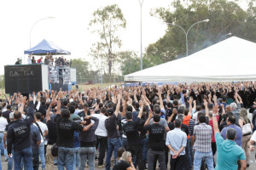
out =
[[(142, 1), (142, 0), (141, 0)], [(143, 2), (143, 51), (149, 43), (156, 42), (165, 34), (167, 26), (150, 10), (167, 8), (172, 0), (144, 0)], [(24, 50), (34, 47), (43, 39), (55, 42), (60, 48), (71, 52), (67, 58), (82, 58), (92, 61), (89, 56), (93, 42), (98, 35), (92, 34), (89, 22), (93, 12), (107, 5), (118, 4), (126, 28), (120, 32), (123, 46), (120, 50), (133, 50), (140, 54), (140, 4), (139, 0), (9, 0), (0, 1), (0, 75), (4, 65), (14, 65), (18, 57), (26, 63)], [(55, 17), (39, 21), (40, 19)], [(32, 28), (33, 26), (33, 28)], [(25, 59), (25, 60), (24, 60)], [(36, 57), (37, 59), (37, 57)], [(25, 61), (25, 62), (24, 62)]]

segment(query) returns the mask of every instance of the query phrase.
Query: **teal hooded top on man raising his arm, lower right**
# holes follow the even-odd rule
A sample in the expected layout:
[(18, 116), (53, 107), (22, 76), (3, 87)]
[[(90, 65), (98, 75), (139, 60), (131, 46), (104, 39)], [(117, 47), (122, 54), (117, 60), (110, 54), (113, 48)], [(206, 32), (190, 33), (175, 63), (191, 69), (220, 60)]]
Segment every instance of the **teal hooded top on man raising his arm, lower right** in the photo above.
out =
[(215, 170), (236, 170), (238, 160), (246, 160), (244, 151), (235, 141), (224, 140), (220, 133), (215, 133), (217, 145), (217, 165)]

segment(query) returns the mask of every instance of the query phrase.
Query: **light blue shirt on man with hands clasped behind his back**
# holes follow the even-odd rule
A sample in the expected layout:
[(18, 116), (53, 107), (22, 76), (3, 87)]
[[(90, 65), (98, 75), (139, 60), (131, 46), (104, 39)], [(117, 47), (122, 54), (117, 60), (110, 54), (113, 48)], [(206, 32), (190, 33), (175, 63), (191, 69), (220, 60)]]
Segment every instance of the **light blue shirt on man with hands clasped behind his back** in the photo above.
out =
[[(171, 145), (173, 150), (180, 150), (181, 147), (186, 147), (187, 145), (187, 135), (180, 128), (174, 128), (172, 131), (167, 133), (166, 145)], [(181, 156), (185, 155), (185, 149), (180, 153)], [(171, 154), (174, 153), (171, 150)]]

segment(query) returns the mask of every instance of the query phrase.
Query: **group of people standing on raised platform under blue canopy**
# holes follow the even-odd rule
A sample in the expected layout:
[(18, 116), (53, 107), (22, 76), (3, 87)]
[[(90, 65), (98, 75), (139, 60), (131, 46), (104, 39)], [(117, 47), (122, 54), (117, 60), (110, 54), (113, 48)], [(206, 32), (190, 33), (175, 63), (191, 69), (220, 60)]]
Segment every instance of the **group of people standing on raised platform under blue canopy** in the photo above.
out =
[[(15, 65), (21, 65), (22, 60), (20, 58), (17, 58), (17, 61), (15, 62)], [(44, 64), (49, 66), (65, 66), (70, 65), (69, 60), (65, 59), (63, 56), (54, 58), (52, 54), (46, 54), (46, 56), (43, 58), (40, 56), (38, 59), (35, 59), (35, 56), (32, 54), (28, 55), (27, 58), (27, 65), (31, 64)]]

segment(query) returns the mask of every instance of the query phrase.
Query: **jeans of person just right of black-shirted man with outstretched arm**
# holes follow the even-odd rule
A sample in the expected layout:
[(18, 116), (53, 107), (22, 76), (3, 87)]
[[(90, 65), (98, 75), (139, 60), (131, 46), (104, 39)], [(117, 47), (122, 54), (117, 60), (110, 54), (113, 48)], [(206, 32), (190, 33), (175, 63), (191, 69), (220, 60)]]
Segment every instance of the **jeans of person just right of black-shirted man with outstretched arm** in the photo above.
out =
[(85, 166), (87, 160), (88, 160), (88, 164), (89, 164), (89, 169), (94, 170), (96, 148), (95, 147), (82, 147), (79, 150), (79, 154), (80, 154), (79, 170), (84, 170), (84, 166)]

